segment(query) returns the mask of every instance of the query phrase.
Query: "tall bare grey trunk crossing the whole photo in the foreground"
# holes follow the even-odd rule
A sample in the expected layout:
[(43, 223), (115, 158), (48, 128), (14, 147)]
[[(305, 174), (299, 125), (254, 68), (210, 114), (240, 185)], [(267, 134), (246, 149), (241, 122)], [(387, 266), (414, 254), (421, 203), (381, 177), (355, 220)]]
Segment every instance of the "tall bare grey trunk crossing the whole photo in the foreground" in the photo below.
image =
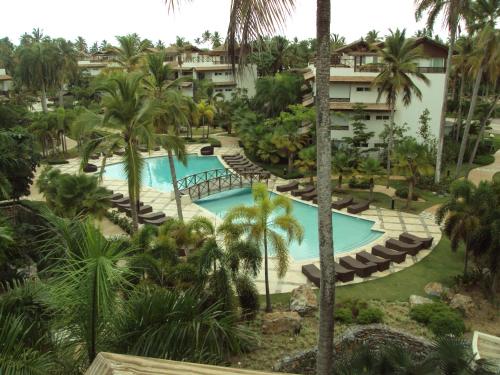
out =
[(330, 0), (317, 0), (316, 40), (316, 147), (318, 191), (318, 239), (321, 268), (318, 355), (316, 374), (330, 375), (333, 368), (333, 313), (335, 262), (332, 227), (332, 143), (330, 134)]

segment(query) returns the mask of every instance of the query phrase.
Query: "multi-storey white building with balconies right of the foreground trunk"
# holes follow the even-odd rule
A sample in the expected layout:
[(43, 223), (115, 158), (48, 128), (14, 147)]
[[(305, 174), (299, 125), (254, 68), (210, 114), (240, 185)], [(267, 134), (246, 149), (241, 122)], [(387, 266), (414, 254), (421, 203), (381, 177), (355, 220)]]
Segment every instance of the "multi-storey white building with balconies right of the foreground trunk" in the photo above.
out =
[[(378, 44), (383, 47), (383, 42)], [(439, 133), (439, 121), (442, 108), (442, 95), (445, 82), (445, 66), (448, 48), (432, 39), (423, 37), (415, 40), (415, 47), (421, 48), (424, 58), (418, 61), (419, 70), (429, 79), (426, 85), (414, 77), (414, 83), (422, 92), (422, 100), (413, 96), (409, 106), (405, 106), (399, 95), (394, 122), (406, 124), (407, 135), (418, 138), (419, 117), (427, 109), (430, 114), (430, 130), (434, 136)], [(377, 102), (378, 89), (373, 86), (375, 77), (382, 68), (380, 57), (369, 43), (363, 39), (348, 44), (334, 51), (330, 65), (330, 122), (332, 139), (341, 143), (343, 137), (351, 137), (351, 115), (356, 104), (362, 104), (366, 111), (364, 123), (367, 131), (375, 136), (366, 147), (379, 147), (379, 134), (388, 123), (390, 108), (384, 95)], [(314, 104), (316, 69), (313, 64), (304, 73), (306, 82), (312, 86), (312, 94), (304, 97), (304, 105)]]

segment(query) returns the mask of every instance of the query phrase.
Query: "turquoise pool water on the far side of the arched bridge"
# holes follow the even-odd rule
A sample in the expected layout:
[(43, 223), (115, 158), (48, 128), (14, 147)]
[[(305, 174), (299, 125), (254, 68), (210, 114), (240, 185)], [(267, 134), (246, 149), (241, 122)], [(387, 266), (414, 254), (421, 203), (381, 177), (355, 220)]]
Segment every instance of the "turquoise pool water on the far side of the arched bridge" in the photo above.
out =
[[(144, 159), (144, 170), (142, 172), (142, 185), (155, 188), (160, 191), (173, 191), (172, 176), (166, 156)], [(217, 156), (188, 155), (187, 165), (182, 164), (174, 158), (177, 179), (209, 171), (224, 168)], [(112, 164), (106, 167), (104, 176), (114, 180), (126, 180), (123, 163)]]

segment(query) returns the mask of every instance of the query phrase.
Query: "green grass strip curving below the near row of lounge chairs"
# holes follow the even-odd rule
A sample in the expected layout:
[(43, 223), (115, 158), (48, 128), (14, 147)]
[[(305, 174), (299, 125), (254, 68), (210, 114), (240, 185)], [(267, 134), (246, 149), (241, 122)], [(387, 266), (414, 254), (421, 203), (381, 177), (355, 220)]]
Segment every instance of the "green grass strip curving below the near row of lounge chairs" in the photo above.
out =
[[(463, 247), (453, 253), (450, 241), (443, 237), (434, 250), (414, 266), (381, 279), (337, 287), (337, 301), (360, 299), (407, 302), (412, 294), (423, 295), (424, 286), (431, 281), (451, 285), (453, 277), (463, 272), (463, 263)], [(289, 293), (272, 296), (273, 304), (288, 305), (289, 299)]]

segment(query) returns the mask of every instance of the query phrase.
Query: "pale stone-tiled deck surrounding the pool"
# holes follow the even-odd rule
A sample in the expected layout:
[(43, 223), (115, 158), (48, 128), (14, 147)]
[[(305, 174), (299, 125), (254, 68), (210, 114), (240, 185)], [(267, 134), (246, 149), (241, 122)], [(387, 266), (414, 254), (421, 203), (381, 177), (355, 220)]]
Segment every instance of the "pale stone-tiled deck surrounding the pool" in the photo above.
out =
[[(199, 154), (199, 150), (201, 147), (206, 146), (206, 144), (190, 144), (187, 145), (187, 151), (191, 154)], [(224, 154), (235, 154), (241, 152), (241, 149), (234, 145), (223, 146), (220, 148), (215, 148), (215, 155), (224, 155)], [(165, 151), (155, 151), (151, 153), (143, 153), (144, 157), (155, 157), (155, 156), (165, 156)], [(223, 165), (227, 166), (222, 158), (219, 158)], [(107, 159), (107, 164), (119, 163), (122, 161), (120, 156), (114, 156)], [(79, 170), (79, 159), (71, 159), (69, 164), (63, 164), (54, 166), (59, 168), (64, 173), (77, 173)], [(91, 161), (91, 163), (95, 163), (96, 165), (100, 165), (100, 160)], [(269, 180), (269, 190), (278, 193), (275, 189), (277, 185), (285, 184), (287, 181), (282, 180), (276, 176), (272, 176)], [(106, 188), (113, 190), (115, 193), (123, 193), (124, 195), (128, 194), (127, 182), (124, 180), (112, 180), (106, 177), (103, 178), (103, 186)], [(281, 193), (278, 193), (281, 194)], [(296, 199), (289, 194), (285, 194), (289, 196), (291, 199)], [(155, 212), (164, 212), (167, 216), (176, 217), (177, 209), (175, 205), (175, 200), (172, 192), (161, 192), (156, 189), (150, 187), (143, 187), (141, 190), (141, 201), (146, 205), (151, 205), (153, 207), (153, 211)], [(304, 202), (304, 201), (301, 201)], [(309, 202), (304, 202), (313, 205)], [(350, 215), (346, 212), (346, 210), (340, 211), (343, 214)], [(221, 223), (221, 219), (216, 215), (211, 213), (210, 211), (198, 206), (195, 203), (192, 203), (189, 199), (183, 200), (183, 213), (184, 218), (189, 220), (194, 216), (206, 216), (213, 220), (214, 224), (217, 226)], [(439, 226), (434, 222), (434, 218), (432, 214), (423, 212), (420, 215), (409, 214), (400, 211), (387, 210), (379, 207), (371, 207), (369, 210), (364, 211), (362, 214), (354, 215), (358, 217), (362, 217), (364, 219), (372, 220), (375, 222), (373, 229), (381, 230), (384, 234), (377, 238), (375, 241), (356, 248), (351, 252), (342, 253), (342, 256), (352, 255), (356, 252), (366, 250), (370, 252), (371, 247), (377, 244), (383, 245), (388, 238), (394, 237), (397, 238), (400, 233), (404, 231), (411, 232), (415, 235), (422, 237), (434, 237), (433, 246), (435, 246), (439, 240), (441, 239), (441, 230)], [(335, 222), (334, 222), (335, 225)], [(335, 244), (334, 244), (335, 245)], [(377, 279), (380, 277), (384, 277), (390, 275), (394, 272), (401, 271), (407, 267), (412, 266), (416, 262), (420, 261), (424, 257), (426, 257), (431, 250), (421, 250), (416, 257), (407, 257), (407, 260), (401, 264), (392, 263), (389, 270), (384, 272), (376, 272), (372, 274), (371, 277), (368, 278), (360, 278), (355, 277), (353, 281), (349, 283), (337, 283), (338, 286), (354, 284), (365, 282), (373, 279)], [(271, 293), (286, 293), (290, 292), (292, 289), (303, 285), (308, 284), (309, 281), (302, 274), (302, 265), (304, 264), (316, 264), (319, 267), (319, 259), (308, 259), (304, 261), (294, 261), (291, 259), (290, 265), (288, 268), (288, 272), (283, 279), (279, 279), (277, 277), (275, 269), (275, 261), (274, 259), (270, 259), (270, 272), (269, 272), (269, 286)], [(265, 285), (264, 285), (264, 272), (262, 271), (256, 278), (257, 288), (260, 293), (264, 294)], [(312, 285), (312, 284), (311, 284)]]

